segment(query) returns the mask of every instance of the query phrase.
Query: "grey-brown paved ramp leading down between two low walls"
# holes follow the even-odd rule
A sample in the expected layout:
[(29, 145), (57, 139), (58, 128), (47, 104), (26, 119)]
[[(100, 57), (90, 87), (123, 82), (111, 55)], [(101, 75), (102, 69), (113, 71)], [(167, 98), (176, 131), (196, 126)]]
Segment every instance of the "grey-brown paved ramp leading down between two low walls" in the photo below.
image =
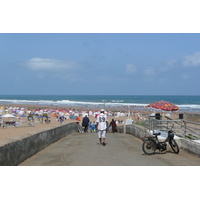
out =
[(96, 133), (73, 133), (19, 166), (200, 166), (200, 158), (182, 150), (145, 155), (142, 141), (129, 134), (108, 133), (106, 146), (98, 142)]

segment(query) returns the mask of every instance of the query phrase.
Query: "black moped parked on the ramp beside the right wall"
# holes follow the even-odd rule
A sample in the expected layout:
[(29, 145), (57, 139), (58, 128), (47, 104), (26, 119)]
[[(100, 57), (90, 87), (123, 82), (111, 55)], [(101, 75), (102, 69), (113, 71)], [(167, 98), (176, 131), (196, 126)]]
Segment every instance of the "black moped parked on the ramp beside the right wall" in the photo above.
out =
[(152, 155), (155, 153), (156, 149), (158, 149), (160, 152), (165, 151), (167, 149), (167, 142), (168, 142), (174, 153), (178, 154), (179, 147), (176, 141), (174, 140), (175, 132), (172, 131), (172, 128), (171, 130), (168, 131), (168, 136), (163, 142), (158, 140), (158, 135), (161, 135), (160, 132), (153, 133), (154, 136), (147, 137), (147, 139), (142, 144), (142, 150), (144, 151), (144, 153), (147, 155)]

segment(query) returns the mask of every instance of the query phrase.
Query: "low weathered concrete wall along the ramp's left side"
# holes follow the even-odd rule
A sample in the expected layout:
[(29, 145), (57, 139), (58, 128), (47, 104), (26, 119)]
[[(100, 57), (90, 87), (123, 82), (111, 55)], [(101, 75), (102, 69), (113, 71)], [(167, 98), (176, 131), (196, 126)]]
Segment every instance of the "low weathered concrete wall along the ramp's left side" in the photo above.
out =
[(70, 123), (43, 132), (15, 137), (7, 144), (0, 143), (0, 165), (16, 166), (59, 139), (78, 132), (79, 125)]

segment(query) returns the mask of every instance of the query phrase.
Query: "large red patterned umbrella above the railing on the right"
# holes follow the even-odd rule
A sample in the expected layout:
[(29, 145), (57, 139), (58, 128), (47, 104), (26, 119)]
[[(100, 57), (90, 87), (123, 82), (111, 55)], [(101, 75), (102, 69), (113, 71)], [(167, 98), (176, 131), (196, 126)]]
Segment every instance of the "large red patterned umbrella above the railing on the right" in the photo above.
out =
[(177, 111), (178, 106), (167, 101), (157, 101), (147, 105), (146, 107), (156, 108), (164, 111)]

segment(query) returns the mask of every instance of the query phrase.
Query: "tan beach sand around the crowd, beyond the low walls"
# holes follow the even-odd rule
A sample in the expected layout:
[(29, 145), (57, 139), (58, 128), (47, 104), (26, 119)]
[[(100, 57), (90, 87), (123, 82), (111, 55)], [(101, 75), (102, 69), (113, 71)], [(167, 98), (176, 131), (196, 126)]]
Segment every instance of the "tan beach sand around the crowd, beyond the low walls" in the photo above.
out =
[[(13, 125), (9, 125), (8, 127), (5, 127), (3, 128), (1, 126), (0, 128), (0, 141), (1, 140), (7, 140), (7, 139), (10, 139), (10, 138), (13, 138), (13, 137), (16, 137), (16, 136), (19, 136), (19, 135), (23, 135), (23, 134), (26, 134), (26, 133), (29, 133), (29, 132), (41, 132), (41, 131), (44, 131), (44, 130), (48, 130), (48, 129), (52, 129), (52, 128), (55, 128), (55, 127), (58, 127), (58, 126), (62, 126), (63, 124), (67, 124), (67, 123), (79, 123), (81, 125), (81, 122), (82, 122), (82, 118), (84, 117), (83, 115), (80, 115), (80, 113), (82, 112), (92, 112), (93, 115), (89, 115), (89, 119), (90, 119), (90, 122), (95, 122), (96, 121), (96, 118), (95, 118), (95, 115), (94, 115), (94, 112), (98, 111), (98, 110), (90, 110), (89, 108), (85, 109), (85, 108), (80, 108), (80, 107), (75, 107), (75, 108), (70, 108), (70, 107), (51, 107), (51, 106), (31, 106), (31, 105), (11, 105), (10, 108), (12, 109), (8, 109), (6, 108), (6, 105), (0, 105), (1, 108), (4, 108), (4, 112), (0, 113), (1, 115), (4, 115), (6, 113), (11, 113), (12, 114), (12, 111), (16, 108), (18, 109), (22, 109), (22, 108), (25, 108), (25, 115), (27, 116), (29, 110), (31, 111), (35, 111), (35, 110), (48, 110), (49, 113), (48, 113), (48, 116), (50, 117), (50, 123), (46, 124), (46, 123), (42, 123), (42, 121), (38, 120), (35, 118), (34, 120), (34, 126), (29, 126), (28, 123), (28, 119), (27, 117), (24, 117), (24, 118), (19, 118), (19, 114), (16, 114), (16, 117), (14, 118), (14, 120), (16, 120), (16, 122), (20, 122), (20, 125), (18, 125), (17, 127), (13, 126)], [(8, 107), (8, 106), (7, 106)], [(5, 112), (5, 110), (7, 110), (7, 112)], [(76, 119), (71, 119), (71, 118), (68, 118), (68, 119), (65, 119), (64, 120), (64, 123), (61, 124), (59, 121), (56, 120), (56, 117), (55, 115), (52, 116), (52, 110), (57, 110), (57, 112), (59, 110), (64, 110), (63, 112), (65, 113), (66, 110), (71, 110), (73, 111), (72, 113), (78, 113), (79, 117), (80, 117), (80, 120), (76, 120)], [(111, 113), (114, 113), (113, 110), (111, 109), (106, 109), (106, 111), (111, 114)], [(114, 120), (117, 120), (119, 123), (118, 123), (118, 126), (119, 125), (123, 125), (126, 121), (126, 119), (128, 119), (128, 111), (127, 110), (124, 110), (123, 108), (119, 108), (118, 109), (119, 112), (122, 113), (122, 116), (111, 116), (111, 115), (108, 115), (108, 120), (109, 122), (111, 122), (112, 119)], [(132, 120), (144, 120), (144, 118), (146, 116), (149, 116), (150, 114), (152, 113), (152, 111), (145, 111), (145, 110), (131, 110), (130, 112), (130, 119)], [(115, 113), (116, 114), (116, 113)], [(59, 115), (59, 114), (57, 114)], [(72, 114), (71, 114), (72, 115)], [(171, 113), (170, 115), (170, 118), (172, 119), (178, 119), (179, 117), (179, 113)], [(2, 118), (1, 120), (4, 120), (4, 118)], [(21, 122), (21, 120), (23, 120), (24, 122)]]

